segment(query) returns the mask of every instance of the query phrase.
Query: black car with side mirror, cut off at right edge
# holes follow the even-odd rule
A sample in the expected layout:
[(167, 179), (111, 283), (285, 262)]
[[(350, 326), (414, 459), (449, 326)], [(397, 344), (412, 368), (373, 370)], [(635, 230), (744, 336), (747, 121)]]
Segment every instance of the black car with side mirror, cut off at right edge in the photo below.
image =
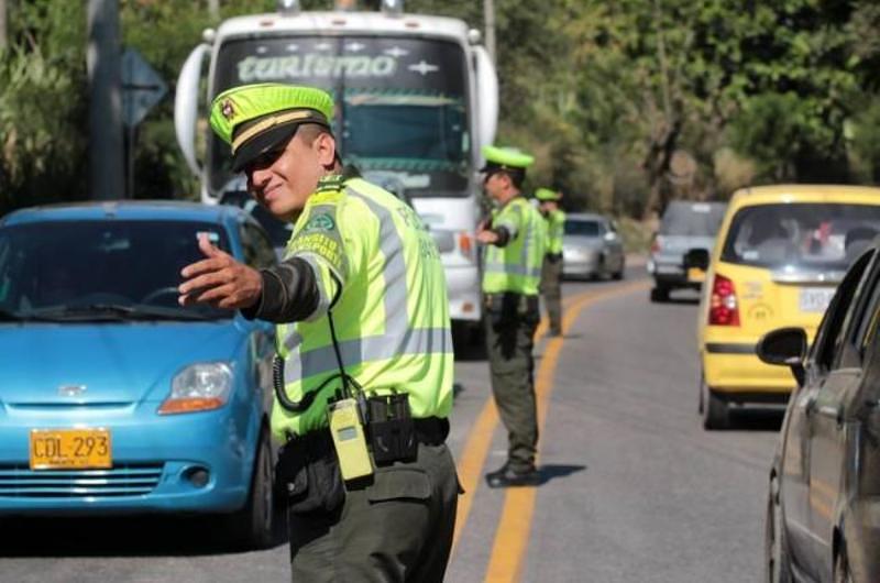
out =
[(758, 355), (798, 387), (770, 472), (768, 581), (880, 581), (880, 252), (849, 268), (813, 346), (784, 328)]

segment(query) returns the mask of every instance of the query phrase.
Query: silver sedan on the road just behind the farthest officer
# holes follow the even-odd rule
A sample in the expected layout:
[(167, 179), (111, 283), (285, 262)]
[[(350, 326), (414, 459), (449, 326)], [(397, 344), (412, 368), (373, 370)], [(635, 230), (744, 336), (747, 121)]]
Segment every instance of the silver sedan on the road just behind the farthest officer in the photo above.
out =
[(586, 212), (565, 216), (562, 238), (564, 277), (624, 277), (624, 243), (614, 221)]

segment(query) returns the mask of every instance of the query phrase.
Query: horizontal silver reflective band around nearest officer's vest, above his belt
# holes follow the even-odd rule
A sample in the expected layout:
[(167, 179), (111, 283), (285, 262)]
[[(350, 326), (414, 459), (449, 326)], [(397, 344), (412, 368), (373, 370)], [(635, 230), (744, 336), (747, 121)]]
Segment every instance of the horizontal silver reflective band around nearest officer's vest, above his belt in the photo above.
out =
[[(443, 354), (452, 352), (449, 328), (411, 328), (403, 337), (380, 334), (339, 343), (342, 362), (351, 369), (364, 362), (384, 361), (402, 354)], [(292, 354), (284, 365), (288, 383), (339, 369), (333, 345)]]

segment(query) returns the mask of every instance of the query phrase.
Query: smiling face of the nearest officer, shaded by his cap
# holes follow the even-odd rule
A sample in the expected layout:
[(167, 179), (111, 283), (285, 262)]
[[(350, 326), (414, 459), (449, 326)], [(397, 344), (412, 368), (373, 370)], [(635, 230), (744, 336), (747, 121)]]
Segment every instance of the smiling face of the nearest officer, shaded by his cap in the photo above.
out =
[(261, 156), (244, 169), (248, 189), (282, 220), (299, 216), (318, 180), (333, 165), (333, 138), (320, 133), (308, 143), (308, 135), (300, 129), (283, 150)]

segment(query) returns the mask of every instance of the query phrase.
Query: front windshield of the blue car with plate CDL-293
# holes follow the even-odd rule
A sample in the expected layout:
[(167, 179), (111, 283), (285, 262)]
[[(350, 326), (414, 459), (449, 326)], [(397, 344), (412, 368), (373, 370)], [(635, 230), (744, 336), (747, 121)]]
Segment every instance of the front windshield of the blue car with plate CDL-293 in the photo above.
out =
[(0, 229), (4, 320), (205, 320), (232, 312), (177, 302), (180, 270), (202, 258), (198, 233), (229, 250), (208, 222), (41, 221)]

